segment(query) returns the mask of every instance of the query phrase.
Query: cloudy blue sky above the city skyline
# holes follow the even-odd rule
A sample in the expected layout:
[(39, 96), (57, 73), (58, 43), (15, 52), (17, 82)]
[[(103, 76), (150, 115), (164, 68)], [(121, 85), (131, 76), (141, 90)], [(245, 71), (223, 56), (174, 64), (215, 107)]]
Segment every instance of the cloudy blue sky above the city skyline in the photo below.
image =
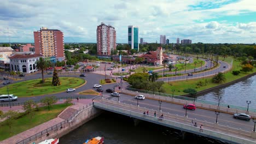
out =
[(256, 43), (255, 0), (1, 0), (0, 43), (34, 43), (41, 27), (59, 29), (65, 43), (96, 43), (101, 22), (117, 43), (127, 43), (129, 25), (148, 43)]

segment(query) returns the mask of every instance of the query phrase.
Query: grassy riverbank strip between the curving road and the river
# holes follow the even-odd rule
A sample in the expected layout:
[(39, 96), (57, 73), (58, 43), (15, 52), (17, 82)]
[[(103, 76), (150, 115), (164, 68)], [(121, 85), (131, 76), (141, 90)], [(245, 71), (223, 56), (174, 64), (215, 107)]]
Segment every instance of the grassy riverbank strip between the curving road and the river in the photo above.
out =
[[(220, 58), (220, 60), (223, 61), (224, 59)], [(225, 61), (228, 62), (228, 63), (231, 63), (232, 58), (228, 57), (228, 58), (225, 59)], [(248, 74), (254, 73), (254, 72), (245, 73), (243, 71), (240, 71), (241, 73), (239, 75), (233, 75), (232, 70), (240, 70), (242, 65), (240, 64), (239, 61), (232, 61), (232, 64), (233, 64), (232, 69), (228, 73), (224, 74), (225, 77), (226, 77), (226, 82), (234, 81), (234, 80), (239, 79), (241, 77), (244, 77)], [(256, 70), (256, 68), (254, 68), (254, 71), (255, 70)], [(219, 83), (219, 84), (218, 83), (212, 83), (211, 80), (212, 80), (212, 78), (209, 77), (209, 78), (205, 78), (205, 79), (196, 79), (196, 80), (194, 79), (194, 80), (188, 80), (188, 81), (174, 81), (174, 82), (170, 82), (170, 84), (165, 83), (163, 85), (163, 87), (166, 90), (165, 93), (172, 94), (172, 89), (175, 89), (176, 90), (174, 92), (175, 95), (183, 95), (183, 94), (187, 94), (187, 93), (183, 92), (183, 90), (186, 89), (186, 88), (195, 88), (196, 91), (202, 91), (204, 89), (211, 88), (211, 87), (223, 84), (223, 83)], [(199, 81), (203, 82), (203, 86), (197, 87), (196, 83), (199, 82)], [(205, 85), (205, 82), (207, 82), (206, 85)]]

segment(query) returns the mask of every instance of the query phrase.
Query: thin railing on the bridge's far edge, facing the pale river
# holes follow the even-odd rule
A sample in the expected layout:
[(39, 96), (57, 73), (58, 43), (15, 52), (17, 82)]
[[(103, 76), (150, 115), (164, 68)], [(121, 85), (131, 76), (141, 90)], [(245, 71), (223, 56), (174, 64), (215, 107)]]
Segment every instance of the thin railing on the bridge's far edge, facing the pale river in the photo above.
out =
[[(172, 98), (172, 94), (167, 94), (167, 93), (152, 92), (152, 91), (146, 91), (146, 90), (142, 90), (142, 89), (135, 89), (135, 88), (129, 88), (129, 87), (127, 87), (126, 89), (129, 90), (129, 91), (135, 92), (133, 94), (136, 94), (138, 92), (138, 93), (147, 93), (147, 94), (153, 94), (155, 96), (160, 95), (160, 96), (165, 96), (165, 97), (168, 97), (168, 98)], [(179, 95), (173, 95), (173, 97), (174, 97), (174, 99), (187, 100), (187, 101), (190, 101), (191, 103), (193, 103), (193, 101), (194, 101), (194, 98), (182, 97), (182, 96), (179, 96)], [(218, 106), (218, 103), (215, 102), (215, 101), (208, 101), (208, 100), (202, 100), (202, 99), (195, 98), (195, 102), (196, 103), (201, 103), (201, 104)], [(220, 107), (228, 107), (228, 105), (229, 104), (219, 103)], [(243, 112), (246, 112), (246, 110), (247, 110), (247, 107), (242, 107), (242, 106), (237, 106), (237, 105), (229, 105), (229, 106), (232, 107), (232, 109), (237, 109), (237, 110), (240, 110), (240, 111), (243, 111)], [(249, 112), (256, 113), (256, 109), (249, 108)]]

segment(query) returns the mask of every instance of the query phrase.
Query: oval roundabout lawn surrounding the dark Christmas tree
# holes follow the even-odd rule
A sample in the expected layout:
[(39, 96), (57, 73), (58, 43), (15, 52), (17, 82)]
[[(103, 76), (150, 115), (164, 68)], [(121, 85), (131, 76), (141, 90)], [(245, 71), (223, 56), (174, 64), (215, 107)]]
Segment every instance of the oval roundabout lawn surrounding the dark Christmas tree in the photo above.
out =
[[(52, 78), (45, 79), (45, 83), (40, 83), (42, 79), (28, 80), (8, 85), (9, 94), (14, 94), (18, 97), (30, 97), (41, 94), (51, 94), (65, 91), (67, 88), (75, 88), (83, 83), (84, 79), (77, 77), (59, 77), (60, 86), (51, 86)], [(7, 94), (7, 88), (0, 88), (1, 94)]]

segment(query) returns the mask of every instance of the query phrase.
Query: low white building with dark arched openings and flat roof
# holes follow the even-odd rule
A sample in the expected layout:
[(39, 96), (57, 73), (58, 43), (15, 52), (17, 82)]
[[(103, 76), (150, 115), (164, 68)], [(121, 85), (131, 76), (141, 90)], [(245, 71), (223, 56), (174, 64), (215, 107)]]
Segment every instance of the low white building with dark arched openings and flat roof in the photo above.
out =
[(44, 57), (41, 54), (20, 54), (9, 57), (10, 59), (10, 70), (20, 71), (21, 73), (34, 73), (38, 71), (36, 68), (36, 61), (40, 57)]

